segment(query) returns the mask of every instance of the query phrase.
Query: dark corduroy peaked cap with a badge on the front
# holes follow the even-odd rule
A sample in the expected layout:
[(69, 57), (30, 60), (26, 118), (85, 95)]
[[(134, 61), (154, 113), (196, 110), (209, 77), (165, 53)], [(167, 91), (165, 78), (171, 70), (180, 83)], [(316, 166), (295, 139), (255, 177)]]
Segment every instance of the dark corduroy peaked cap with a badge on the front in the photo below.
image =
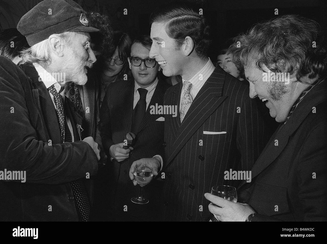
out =
[(96, 32), (85, 11), (73, 0), (44, 0), (20, 19), (17, 29), (33, 46), (52, 34), (65, 31)]

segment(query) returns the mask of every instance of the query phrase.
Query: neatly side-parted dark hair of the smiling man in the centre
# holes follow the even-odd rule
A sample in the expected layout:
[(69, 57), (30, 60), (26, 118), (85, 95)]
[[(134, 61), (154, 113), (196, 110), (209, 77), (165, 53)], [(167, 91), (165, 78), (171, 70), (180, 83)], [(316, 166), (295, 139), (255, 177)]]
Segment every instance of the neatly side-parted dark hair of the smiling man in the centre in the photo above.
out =
[(211, 40), (209, 25), (203, 15), (185, 4), (169, 4), (151, 14), (150, 24), (153, 22), (167, 22), (166, 33), (170, 38), (175, 39), (177, 48), (181, 47), (186, 36), (190, 36), (195, 43), (198, 56), (207, 57)]

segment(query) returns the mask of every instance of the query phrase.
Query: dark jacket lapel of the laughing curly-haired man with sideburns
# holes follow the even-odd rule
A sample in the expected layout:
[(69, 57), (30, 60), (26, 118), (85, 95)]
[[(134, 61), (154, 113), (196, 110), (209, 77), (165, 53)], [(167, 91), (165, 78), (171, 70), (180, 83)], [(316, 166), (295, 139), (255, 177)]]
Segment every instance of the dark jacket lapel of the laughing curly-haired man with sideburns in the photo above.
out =
[[(280, 130), (280, 127), (277, 128), (276, 132), (272, 135), (258, 160), (251, 169), (252, 179), (264, 171), (273, 161), (278, 158), (286, 147), (289, 137), (297, 130), (307, 115), (312, 112), (313, 107), (326, 101), (327, 95), (325, 85), (326, 81), (323, 81), (319, 85), (312, 88), (312, 90), (305, 95), (301, 103), (299, 103), (297, 108), (292, 113), (292, 116), (288, 119), (284, 126)], [(276, 140), (278, 140), (278, 146)], [(245, 183), (246, 180), (244, 180), (238, 188)]]

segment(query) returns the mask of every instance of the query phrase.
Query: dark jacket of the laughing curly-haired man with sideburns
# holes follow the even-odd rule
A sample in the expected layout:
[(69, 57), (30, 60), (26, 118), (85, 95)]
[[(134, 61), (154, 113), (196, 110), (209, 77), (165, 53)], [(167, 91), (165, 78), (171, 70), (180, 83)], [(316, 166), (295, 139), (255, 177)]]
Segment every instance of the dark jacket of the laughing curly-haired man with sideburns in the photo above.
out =
[(327, 220), (327, 89), (313, 87), (277, 129), (252, 168), (239, 201), (258, 213), (252, 221)]

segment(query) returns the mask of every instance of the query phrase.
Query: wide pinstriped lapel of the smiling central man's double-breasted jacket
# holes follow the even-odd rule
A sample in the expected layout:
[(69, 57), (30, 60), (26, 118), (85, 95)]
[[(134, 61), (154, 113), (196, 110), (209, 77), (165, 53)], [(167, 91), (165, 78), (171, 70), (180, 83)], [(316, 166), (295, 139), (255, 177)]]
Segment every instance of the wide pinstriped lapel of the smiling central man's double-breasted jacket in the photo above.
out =
[[(222, 74), (214, 72), (204, 83), (193, 100), (183, 122), (181, 123), (180, 128), (178, 129), (175, 142), (171, 146), (172, 151), (169, 152), (170, 156), (166, 162), (166, 167), (169, 166), (170, 162), (175, 158), (185, 143), (198, 130), (201, 124), (203, 124), (217, 109), (217, 107), (227, 98), (227, 96), (222, 96), (224, 82), (221, 82), (221, 80), (218, 79), (222, 78), (221, 76)], [(224, 75), (224, 78), (225, 76), (226, 75)], [(179, 92), (179, 94), (181, 93)], [(175, 95), (175, 102), (176, 100), (177, 98)], [(180, 120), (180, 116), (178, 116), (178, 120)]]

